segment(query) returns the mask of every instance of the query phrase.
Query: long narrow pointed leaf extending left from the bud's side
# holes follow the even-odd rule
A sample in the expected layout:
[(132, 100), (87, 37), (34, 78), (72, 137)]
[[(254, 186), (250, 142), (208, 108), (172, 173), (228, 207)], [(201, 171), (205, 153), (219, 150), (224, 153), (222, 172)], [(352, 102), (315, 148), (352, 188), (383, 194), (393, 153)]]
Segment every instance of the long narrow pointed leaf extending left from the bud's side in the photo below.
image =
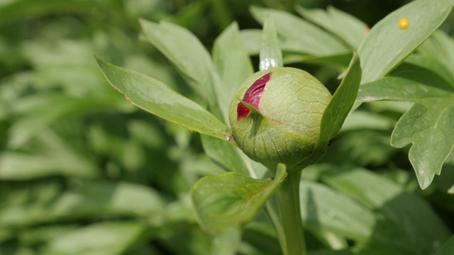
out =
[(135, 106), (190, 130), (221, 139), (230, 137), (226, 125), (199, 104), (172, 91), (168, 86), (143, 74), (133, 72), (96, 58), (102, 72), (114, 89)]

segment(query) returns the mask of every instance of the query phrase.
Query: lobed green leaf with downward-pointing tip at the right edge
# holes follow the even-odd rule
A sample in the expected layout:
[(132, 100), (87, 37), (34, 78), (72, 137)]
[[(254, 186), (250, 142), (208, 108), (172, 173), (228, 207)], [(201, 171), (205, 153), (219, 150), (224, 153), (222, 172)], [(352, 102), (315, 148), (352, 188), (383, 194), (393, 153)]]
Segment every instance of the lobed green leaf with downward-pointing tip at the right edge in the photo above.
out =
[(454, 95), (415, 103), (392, 132), (391, 145), (412, 144), (409, 159), (419, 186), (427, 188), (454, 148)]

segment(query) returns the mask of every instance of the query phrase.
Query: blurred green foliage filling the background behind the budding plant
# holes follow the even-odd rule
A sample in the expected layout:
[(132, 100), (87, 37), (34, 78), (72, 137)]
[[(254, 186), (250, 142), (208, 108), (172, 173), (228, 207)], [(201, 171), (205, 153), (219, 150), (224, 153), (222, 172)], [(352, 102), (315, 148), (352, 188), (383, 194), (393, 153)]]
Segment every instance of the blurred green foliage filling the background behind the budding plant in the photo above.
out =
[[(124, 100), (92, 57), (150, 74), (191, 98), (182, 77), (140, 37), (138, 18), (184, 26), (211, 50), (233, 21), (240, 29), (261, 28), (251, 5), (292, 13), (295, 4), (331, 5), (372, 27), (407, 2), (1, 1), (0, 254), (209, 254), (211, 239), (196, 224), (188, 191), (223, 169), (204, 154), (199, 135)], [(441, 29), (453, 35), (453, 15)], [(253, 62), (258, 67), (258, 57)], [(338, 69), (294, 66), (336, 89)], [(304, 172), (303, 219), (313, 254), (348, 247), (360, 254), (430, 254), (453, 232), (452, 160), (421, 190), (408, 147), (389, 145), (408, 108), (362, 106), (323, 163)], [(336, 175), (333, 166), (355, 171)], [(265, 215), (243, 239), (241, 254), (280, 252)], [(373, 245), (356, 245), (367, 240)]]

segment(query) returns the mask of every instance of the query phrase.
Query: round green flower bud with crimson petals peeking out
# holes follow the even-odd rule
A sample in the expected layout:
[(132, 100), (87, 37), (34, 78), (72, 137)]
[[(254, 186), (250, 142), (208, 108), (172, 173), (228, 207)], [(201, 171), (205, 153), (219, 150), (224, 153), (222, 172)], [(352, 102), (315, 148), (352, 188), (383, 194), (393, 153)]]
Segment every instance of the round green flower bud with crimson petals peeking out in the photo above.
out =
[(319, 159), (314, 147), (330, 100), (328, 89), (301, 69), (257, 72), (231, 103), (233, 136), (248, 157), (268, 169), (282, 162), (289, 171), (299, 171)]

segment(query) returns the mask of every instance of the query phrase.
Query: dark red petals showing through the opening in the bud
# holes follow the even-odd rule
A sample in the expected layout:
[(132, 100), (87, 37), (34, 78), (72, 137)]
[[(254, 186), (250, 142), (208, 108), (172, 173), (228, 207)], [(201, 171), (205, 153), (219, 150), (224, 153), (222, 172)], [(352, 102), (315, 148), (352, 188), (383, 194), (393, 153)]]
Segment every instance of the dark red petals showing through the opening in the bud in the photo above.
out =
[[(255, 109), (259, 110), (258, 105), (260, 103), (260, 98), (262, 98), (263, 89), (265, 85), (270, 80), (271, 73), (267, 73), (262, 76), (260, 79), (254, 82), (253, 86), (246, 91), (246, 94), (243, 97), (245, 103), (249, 103), (251, 106), (254, 106)], [(243, 105), (243, 103), (238, 103), (237, 107), (237, 120), (242, 120), (243, 118), (248, 117), (250, 110)]]

